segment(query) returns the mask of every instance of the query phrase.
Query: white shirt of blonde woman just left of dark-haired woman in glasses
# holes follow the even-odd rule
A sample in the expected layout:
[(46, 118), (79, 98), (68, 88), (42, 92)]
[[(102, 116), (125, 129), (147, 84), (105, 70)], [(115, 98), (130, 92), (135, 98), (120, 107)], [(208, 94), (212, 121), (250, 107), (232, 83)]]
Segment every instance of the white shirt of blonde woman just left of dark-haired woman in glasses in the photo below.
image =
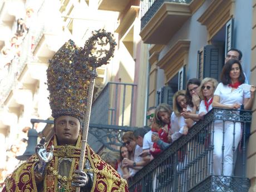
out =
[(176, 116), (174, 112), (171, 114), (171, 130), (174, 132), (171, 135), (172, 142), (179, 139), (183, 135), (183, 129), (186, 126), (185, 119), (182, 115)]

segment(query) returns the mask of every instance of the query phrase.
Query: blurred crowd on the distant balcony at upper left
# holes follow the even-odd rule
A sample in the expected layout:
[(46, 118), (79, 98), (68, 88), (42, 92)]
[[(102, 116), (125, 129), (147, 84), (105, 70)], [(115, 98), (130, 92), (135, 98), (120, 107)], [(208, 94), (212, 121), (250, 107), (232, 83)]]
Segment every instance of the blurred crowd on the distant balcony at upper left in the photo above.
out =
[[(8, 75), (9, 67), (11, 66), (12, 61), (15, 58), (19, 58), (21, 56), (21, 44), (26, 37), (29, 28), (31, 26), (32, 17), (33, 17), (33, 9), (26, 9), (26, 16), (24, 18), (17, 19), (17, 29), (13, 34), (11, 39), (1, 50), (0, 55), (0, 82)], [(33, 36), (32, 36), (32, 45), (33, 48)]]

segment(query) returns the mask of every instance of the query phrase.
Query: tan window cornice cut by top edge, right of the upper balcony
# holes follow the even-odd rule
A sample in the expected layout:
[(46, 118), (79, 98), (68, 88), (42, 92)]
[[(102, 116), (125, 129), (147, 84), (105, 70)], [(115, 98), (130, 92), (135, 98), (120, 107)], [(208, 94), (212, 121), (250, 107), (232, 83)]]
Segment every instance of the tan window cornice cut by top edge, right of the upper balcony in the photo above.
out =
[(215, 0), (212, 1), (205, 12), (199, 17), (198, 22), (208, 29), (208, 40), (211, 38), (233, 17), (234, 0)]

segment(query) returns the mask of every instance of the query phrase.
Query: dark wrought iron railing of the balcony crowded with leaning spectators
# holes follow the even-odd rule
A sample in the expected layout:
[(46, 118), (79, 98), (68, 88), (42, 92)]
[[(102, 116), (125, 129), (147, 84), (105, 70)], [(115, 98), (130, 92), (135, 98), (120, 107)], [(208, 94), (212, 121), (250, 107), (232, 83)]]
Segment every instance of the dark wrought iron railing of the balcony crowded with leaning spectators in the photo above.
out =
[[(211, 110), (204, 120), (190, 128), (188, 135), (174, 141), (141, 169), (129, 181), (129, 191), (248, 191), (250, 182), (245, 178), (248, 127), (245, 125), (251, 117), (251, 111), (246, 110)], [(235, 163), (238, 164), (236, 156), (242, 161), (237, 165), (238, 173), (234, 173)], [(227, 160), (231, 171), (225, 175)], [(215, 174), (218, 171), (219, 175)]]

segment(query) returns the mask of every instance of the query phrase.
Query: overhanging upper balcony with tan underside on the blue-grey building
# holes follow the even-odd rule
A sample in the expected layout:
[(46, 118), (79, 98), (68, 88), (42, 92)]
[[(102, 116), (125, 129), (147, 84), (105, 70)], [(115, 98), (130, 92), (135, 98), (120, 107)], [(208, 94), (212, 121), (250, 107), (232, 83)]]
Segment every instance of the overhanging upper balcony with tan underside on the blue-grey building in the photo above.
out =
[(144, 43), (166, 45), (191, 17), (191, 0), (143, 0), (141, 32)]

